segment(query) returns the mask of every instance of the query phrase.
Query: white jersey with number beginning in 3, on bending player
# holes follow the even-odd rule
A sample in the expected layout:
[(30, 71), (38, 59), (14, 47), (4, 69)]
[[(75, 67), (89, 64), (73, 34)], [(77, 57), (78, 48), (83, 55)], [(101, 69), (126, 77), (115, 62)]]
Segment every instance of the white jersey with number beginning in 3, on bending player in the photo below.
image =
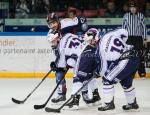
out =
[(66, 34), (60, 40), (58, 55), (56, 55), (56, 65), (65, 68), (67, 65), (75, 67), (78, 56), (86, 47), (86, 43), (74, 34)]

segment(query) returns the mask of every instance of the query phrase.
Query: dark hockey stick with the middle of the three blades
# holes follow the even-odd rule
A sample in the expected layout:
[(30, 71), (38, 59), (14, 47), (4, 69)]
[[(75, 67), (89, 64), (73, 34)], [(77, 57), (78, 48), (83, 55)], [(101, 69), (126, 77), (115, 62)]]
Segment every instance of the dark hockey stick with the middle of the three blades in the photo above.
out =
[[(68, 71), (68, 70), (67, 70)], [(66, 71), (66, 73), (67, 73)], [(65, 74), (66, 74), (65, 73)], [(44, 108), (47, 103), (49, 102), (49, 100), (51, 99), (51, 97), (53, 96), (53, 94), (55, 93), (56, 89), (58, 88), (58, 86), (60, 85), (60, 83), (63, 81), (63, 79), (65, 78), (65, 75), (63, 76), (63, 78), (57, 83), (56, 87), (54, 88), (54, 90), (52, 91), (52, 93), (50, 94), (50, 96), (48, 97), (48, 99), (46, 100), (46, 102), (42, 105), (34, 105), (34, 109), (42, 109)]]

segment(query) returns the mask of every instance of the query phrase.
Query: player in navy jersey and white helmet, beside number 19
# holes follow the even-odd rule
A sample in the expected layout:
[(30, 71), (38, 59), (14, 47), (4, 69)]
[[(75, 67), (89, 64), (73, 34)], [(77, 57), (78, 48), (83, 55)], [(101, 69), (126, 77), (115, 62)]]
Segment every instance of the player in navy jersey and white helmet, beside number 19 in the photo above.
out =
[[(88, 45), (84, 48), (83, 52), (79, 56), (75, 68), (75, 74), (73, 77), (73, 89), (72, 95), (80, 89), (84, 83), (86, 83), (94, 74), (97, 68), (97, 60), (95, 57), (96, 43), (99, 40), (99, 32), (95, 28), (89, 29), (83, 38)], [(95, 78), (96, 79), (96, 78)], [(94, 87), (95, 85), (93, 85)], [(89, 103), (100, 101), (100, 96), (97, 88), (93, 88), (93, 98), (89, 100)], [(80, 94), (76, 94), (71, 102), (67, 104), (69, 108), (78, 109)]]

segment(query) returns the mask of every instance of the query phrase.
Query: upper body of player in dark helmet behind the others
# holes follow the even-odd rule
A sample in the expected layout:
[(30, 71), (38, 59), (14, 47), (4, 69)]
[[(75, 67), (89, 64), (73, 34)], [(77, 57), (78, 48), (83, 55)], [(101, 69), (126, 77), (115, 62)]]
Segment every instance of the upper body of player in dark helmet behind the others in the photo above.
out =
[(53, 29), (61, 30), (62, 36), (67, 33), (77, 35), (77, 32), (82, 33), (86, 32), (88, 29), (86, 18), (76, 16), (75, 10), (71, 10), (69, 12), (73, 12), (74, 17), (64, 18), (62, 20), (59, 20), (59, 17), (54, 12), (48, 14), (47, 16), (48, 27), (51, 28), (53, 26)]

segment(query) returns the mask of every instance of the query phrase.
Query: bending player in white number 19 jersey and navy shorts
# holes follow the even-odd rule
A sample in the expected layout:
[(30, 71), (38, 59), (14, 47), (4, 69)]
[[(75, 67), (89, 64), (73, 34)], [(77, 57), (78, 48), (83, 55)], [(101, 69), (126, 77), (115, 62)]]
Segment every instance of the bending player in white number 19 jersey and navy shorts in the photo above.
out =
[(125, 29), (116, 29), (106, 33), (99, 42), (98, 53), (101, 60), (101, 71), (103, 74), (103, 94), (104, 104), (98, 108), (98, 111), (107, 111), (115, 109), (114, 104), (114, 84), (120, 83), (124, 89), (127, 99), (127, 105), (123, 105), (123, 110), (137, 110), (139, 108), (136, 102), (135, 88), (132, 86), (133, 76), (139, 65), (139, 57), (128, 56), (119, 61), (124, 52), (131, 50), (132, 46), (126, 44), (128, 32)]

